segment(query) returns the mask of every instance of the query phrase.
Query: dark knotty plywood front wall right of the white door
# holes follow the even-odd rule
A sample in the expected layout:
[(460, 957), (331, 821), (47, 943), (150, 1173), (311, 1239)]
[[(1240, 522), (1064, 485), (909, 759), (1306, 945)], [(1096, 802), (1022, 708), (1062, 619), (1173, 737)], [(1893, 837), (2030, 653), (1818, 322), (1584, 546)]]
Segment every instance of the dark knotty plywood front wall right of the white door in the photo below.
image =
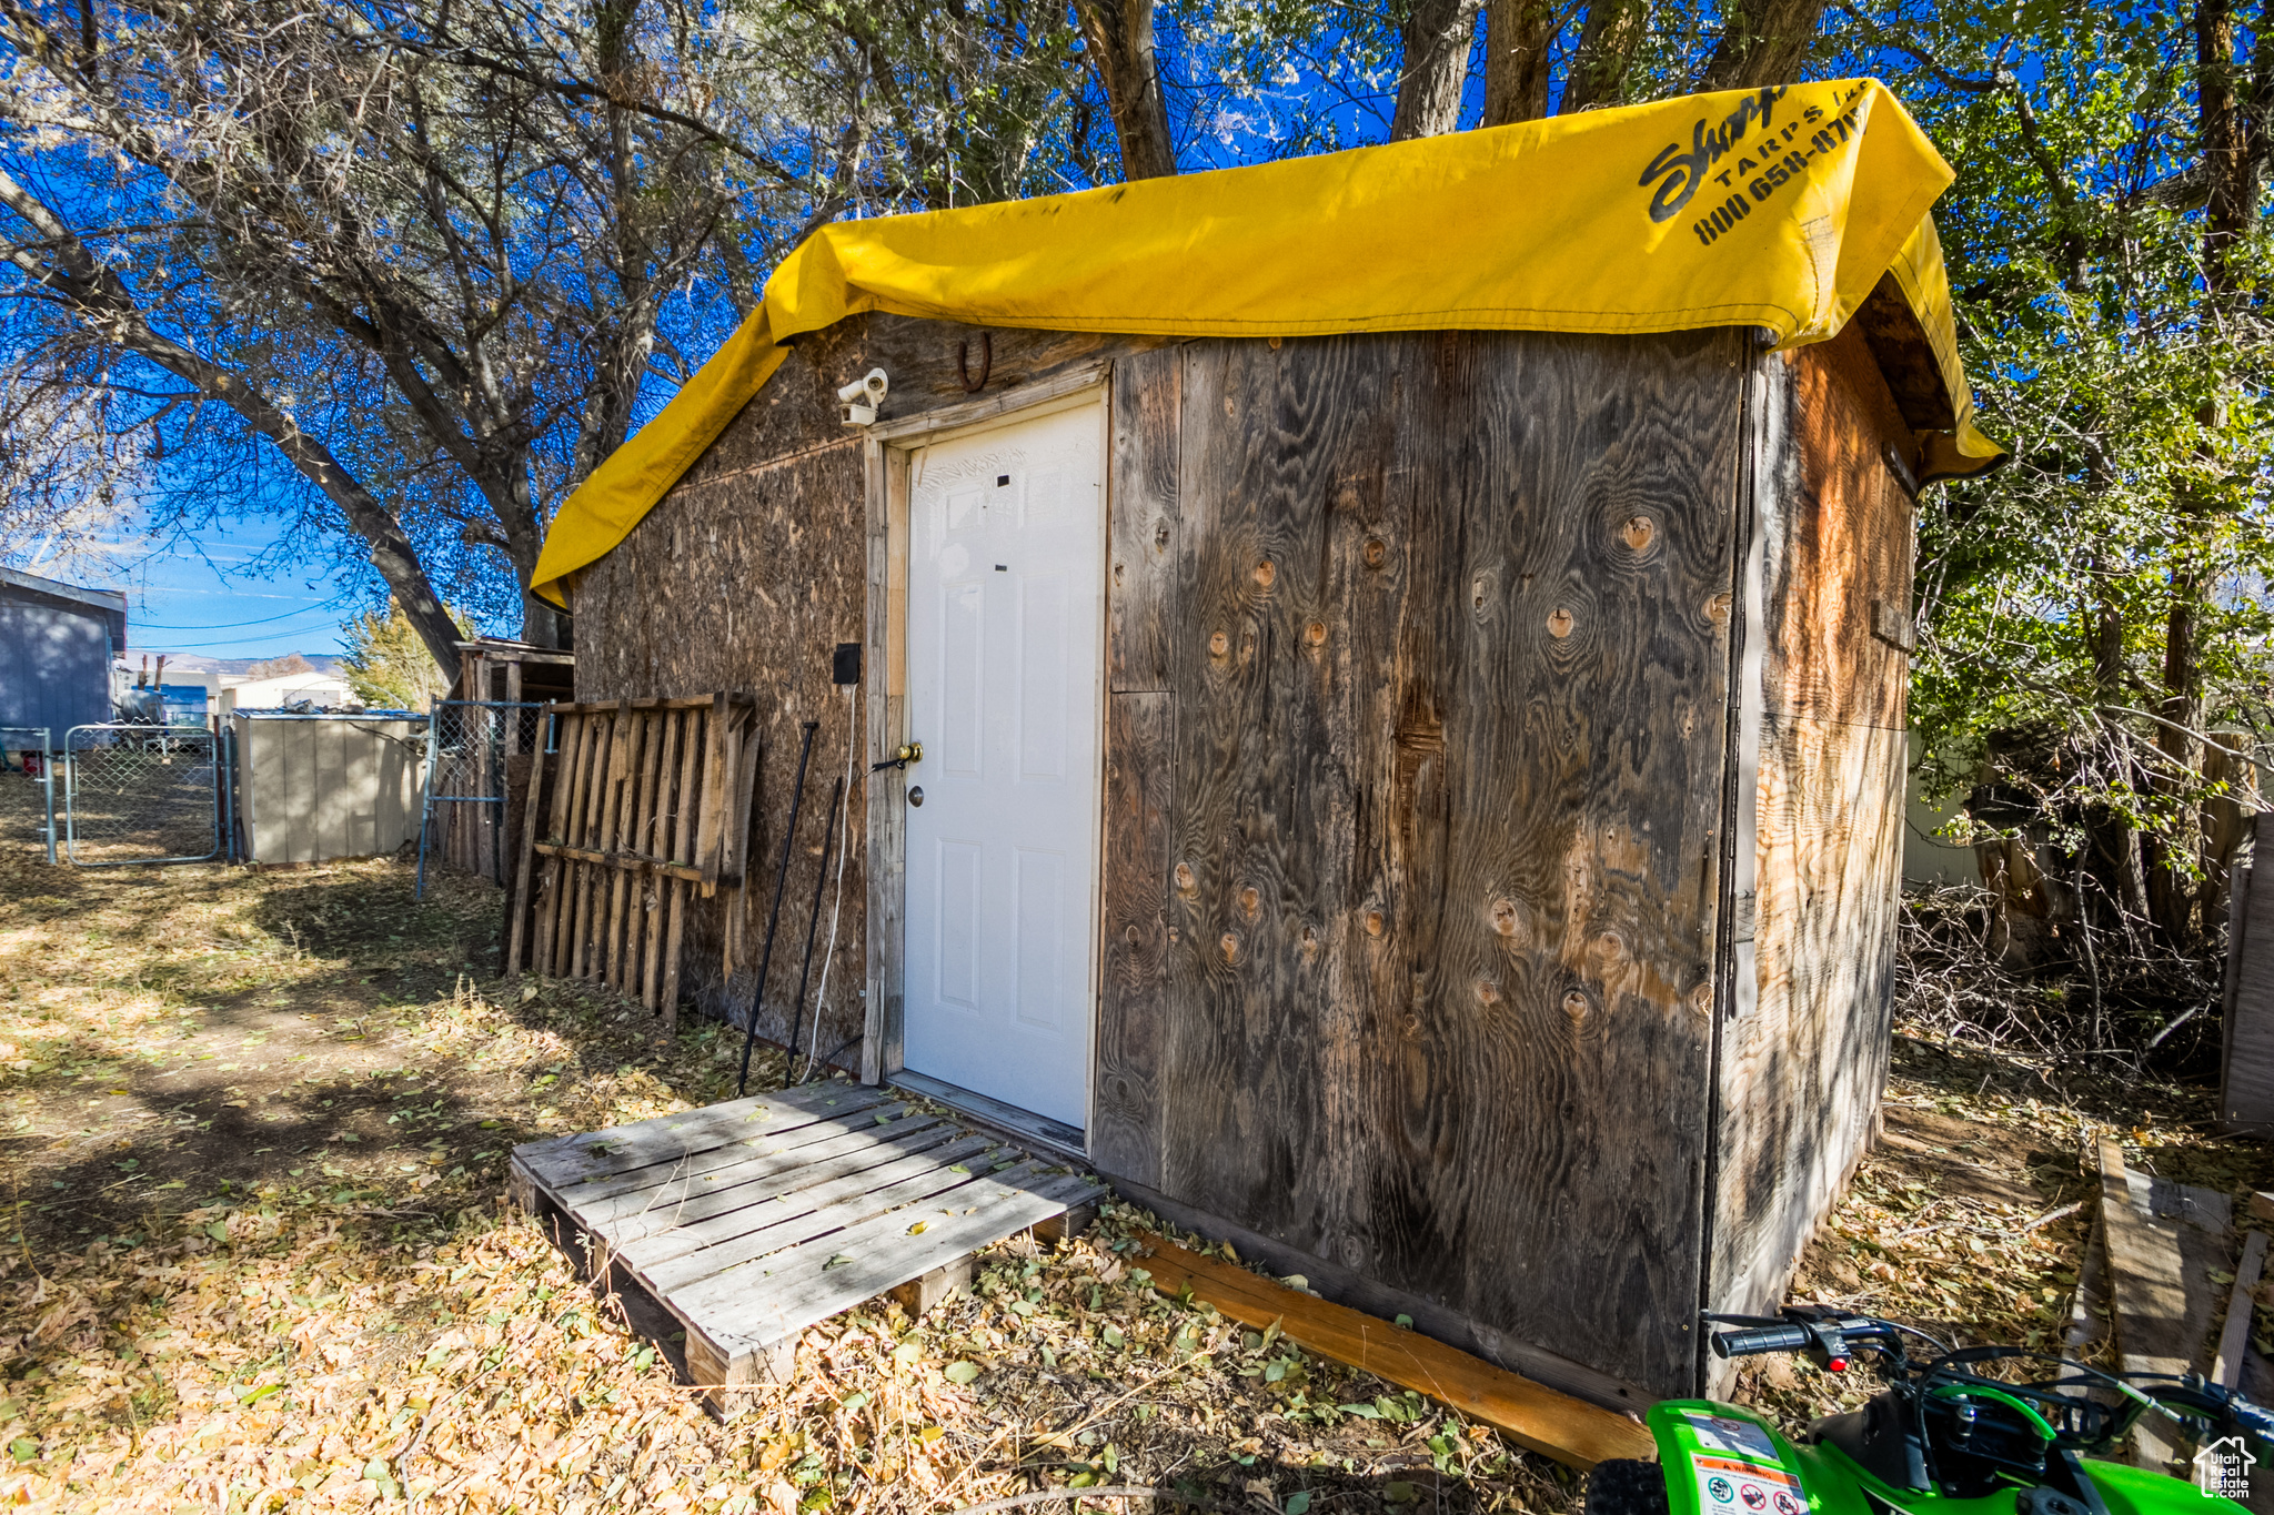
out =
[(1685, 1390), (1740, 338), (1182, 352), (1173, 711), (1137, 722), (1173, 754), (1164, 1024), (1119, 1140), (1171, 1199)]

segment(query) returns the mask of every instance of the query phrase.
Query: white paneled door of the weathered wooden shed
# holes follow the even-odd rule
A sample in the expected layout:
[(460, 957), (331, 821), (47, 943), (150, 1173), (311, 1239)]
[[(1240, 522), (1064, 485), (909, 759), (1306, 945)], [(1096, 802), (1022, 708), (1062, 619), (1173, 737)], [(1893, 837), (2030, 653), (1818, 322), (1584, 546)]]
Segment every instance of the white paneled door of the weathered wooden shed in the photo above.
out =
[(910, 459), (907, 1068), (1069, 1127), (1096, 956), (1098, 434), (1078, 407)]

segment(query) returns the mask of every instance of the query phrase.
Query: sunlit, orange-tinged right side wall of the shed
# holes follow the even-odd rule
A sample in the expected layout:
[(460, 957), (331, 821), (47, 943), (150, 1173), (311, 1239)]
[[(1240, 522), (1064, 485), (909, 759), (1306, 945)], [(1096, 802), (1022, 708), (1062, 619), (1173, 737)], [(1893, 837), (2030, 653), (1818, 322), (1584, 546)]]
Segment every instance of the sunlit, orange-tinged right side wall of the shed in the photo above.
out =
[(1908, 447), (1853, 329), (1769, 359), (1756, 990), (1724, 1027), (1710, 1297), (1769, 1308), (1872, 1138), (1887, 1072), (1903, 854)]

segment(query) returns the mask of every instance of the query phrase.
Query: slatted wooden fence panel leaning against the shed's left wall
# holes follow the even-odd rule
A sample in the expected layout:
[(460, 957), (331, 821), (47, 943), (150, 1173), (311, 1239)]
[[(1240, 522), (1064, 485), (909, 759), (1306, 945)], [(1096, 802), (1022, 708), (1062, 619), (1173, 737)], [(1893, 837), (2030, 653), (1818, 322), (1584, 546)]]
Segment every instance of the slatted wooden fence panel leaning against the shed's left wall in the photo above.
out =
[(687, 902), (746, 884), (755, 700), (548, 713), (559, 725), (530, 777), (507, 963), (607, 984), (675, 1024)]

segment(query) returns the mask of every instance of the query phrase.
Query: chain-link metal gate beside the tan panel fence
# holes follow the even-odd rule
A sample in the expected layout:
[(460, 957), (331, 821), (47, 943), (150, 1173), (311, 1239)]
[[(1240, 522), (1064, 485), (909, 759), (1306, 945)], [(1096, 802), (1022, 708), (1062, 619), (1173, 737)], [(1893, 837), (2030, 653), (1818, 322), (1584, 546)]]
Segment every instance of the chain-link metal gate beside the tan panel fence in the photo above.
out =
[(225, 743), (200, 727), (93, 725), (64, 734), (64, 845), (80, 868), (205, 863), (227, 854)]

